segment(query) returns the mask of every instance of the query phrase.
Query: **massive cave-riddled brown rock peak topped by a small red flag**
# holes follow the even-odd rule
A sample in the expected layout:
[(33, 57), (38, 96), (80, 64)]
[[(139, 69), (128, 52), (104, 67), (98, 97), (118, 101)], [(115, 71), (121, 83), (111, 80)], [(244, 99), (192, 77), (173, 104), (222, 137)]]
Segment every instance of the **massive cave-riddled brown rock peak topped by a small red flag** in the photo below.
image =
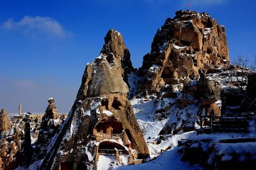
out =
[(177, 11), (158, 29), (143, 57), (140, 92), (156, 94), (166, 84), (196, 80), (199, 70), (214, 73), (229, 65), (225, 27), (206, 13)]

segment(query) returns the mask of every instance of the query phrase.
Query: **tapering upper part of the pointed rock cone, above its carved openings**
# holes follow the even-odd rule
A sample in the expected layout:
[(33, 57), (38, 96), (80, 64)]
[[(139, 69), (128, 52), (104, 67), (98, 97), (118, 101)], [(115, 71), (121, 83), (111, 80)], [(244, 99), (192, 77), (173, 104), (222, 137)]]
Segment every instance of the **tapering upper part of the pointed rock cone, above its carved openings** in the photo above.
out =
[(100, 55), (93, 63), (86, 66), (77, 99), (129, 92), (127, 73), (134, 68), (120, 32), (113, 29), (108, 31)]

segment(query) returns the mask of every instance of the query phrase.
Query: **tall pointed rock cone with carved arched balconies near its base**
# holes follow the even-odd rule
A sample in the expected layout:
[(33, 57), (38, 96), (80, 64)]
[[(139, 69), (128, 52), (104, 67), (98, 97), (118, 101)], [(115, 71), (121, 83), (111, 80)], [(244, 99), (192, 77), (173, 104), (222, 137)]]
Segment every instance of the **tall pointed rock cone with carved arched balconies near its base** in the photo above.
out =
[(127, 99), (125, 73), (132, 69), (122, 35), (109, 30), (99, 57), (86, 66), (76, 101), (47, 147), (41, 169), (97, 169), (104, 152), (113, 152), (116, 158), (120, 153), (128, 155), (130, 164), (147, 157), (147, 145)]

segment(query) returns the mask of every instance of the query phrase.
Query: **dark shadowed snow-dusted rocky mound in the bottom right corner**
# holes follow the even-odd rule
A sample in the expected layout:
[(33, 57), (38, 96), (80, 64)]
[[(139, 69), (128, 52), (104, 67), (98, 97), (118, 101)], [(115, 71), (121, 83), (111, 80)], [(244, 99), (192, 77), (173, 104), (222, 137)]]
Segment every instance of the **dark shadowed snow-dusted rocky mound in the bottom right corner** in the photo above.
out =
[[(214, 139), (211, 137), (179, 142), (180, 160), (202, 169), (243, 169), (255, 167), (255, 138)], [(196, 156), (195, 156), (196, 155)], [(250, 168), (249, 168), (250, 169)]]

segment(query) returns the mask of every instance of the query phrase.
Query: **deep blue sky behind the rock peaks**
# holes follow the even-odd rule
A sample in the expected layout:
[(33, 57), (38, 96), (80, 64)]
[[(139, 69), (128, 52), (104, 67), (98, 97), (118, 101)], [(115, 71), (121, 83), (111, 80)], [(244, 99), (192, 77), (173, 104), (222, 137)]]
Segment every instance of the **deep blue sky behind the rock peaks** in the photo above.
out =
[(256, 54), (255, 1), (77, 0), (0, 1), (0, 108), (44, 112), (49, 97), (60, 112), (72, 107), (87, 62), (110, 28), (123, 34), (134, 67), (157, 28), (175, 11), (205, 11), (226, 26), (230, 58)]

